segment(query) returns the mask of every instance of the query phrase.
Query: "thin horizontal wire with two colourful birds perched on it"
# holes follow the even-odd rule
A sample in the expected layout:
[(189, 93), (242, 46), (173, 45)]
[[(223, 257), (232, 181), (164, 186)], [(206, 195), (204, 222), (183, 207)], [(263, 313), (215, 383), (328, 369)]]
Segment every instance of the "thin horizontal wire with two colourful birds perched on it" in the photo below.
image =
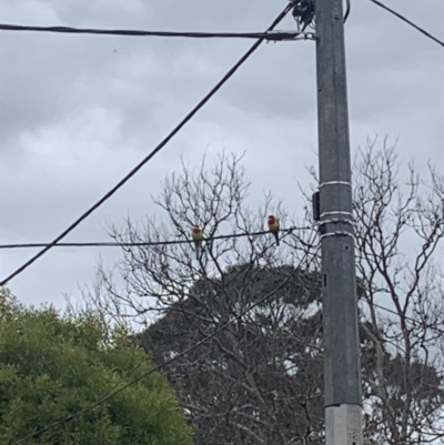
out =
[[(292, 233), (297, 230), (310, 230), (311, 226), (302, 227), (290, 227), (281, 229), (282, 233)], [(270, 234), (270, 231), (262, 232), (245, 232), (245, 233), (232, 233), (231, 235), (218, 235), (204, 237), (204, 242), (215, 241), (215, 240), (231, 240), (238, 237), (256, 237)], [(99, 242), (77, 242), (77, 243), (58, 243), (54, 247), (149, 247), (157, 245), (175, 245), (175, 244), (192, 244), (193, 240), (167, 240), (167, 241), (140, 241), (140, 242), (118, 242), (118, 241), (99, 241)], [(27, 244), (0, 244), (0, 250), (7, 249), (36, 249), (36, 247), (47, 247), (51, 243), (27, 243)]]

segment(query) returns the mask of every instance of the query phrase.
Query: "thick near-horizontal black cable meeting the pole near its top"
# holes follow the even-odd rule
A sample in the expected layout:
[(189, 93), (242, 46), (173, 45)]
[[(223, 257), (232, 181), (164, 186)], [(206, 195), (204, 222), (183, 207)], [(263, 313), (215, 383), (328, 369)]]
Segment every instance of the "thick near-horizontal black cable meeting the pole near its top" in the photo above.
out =
[(266, 31), (266, 32), (174, 32), (174, 31), (144, 31), (144, 30), (121, 30), (121, 29), (94, 29), (94, 28), (71, 28), (71, 27), (36, 27), (21, 24), (0, 24), (0, 31), (29, 31), (49, 32), (64, 34), (99, 34), (121, 37), (172, 37), (191, 39), (263, 39), (269, 41), (293, 40), (300, 33), (294, 31)]

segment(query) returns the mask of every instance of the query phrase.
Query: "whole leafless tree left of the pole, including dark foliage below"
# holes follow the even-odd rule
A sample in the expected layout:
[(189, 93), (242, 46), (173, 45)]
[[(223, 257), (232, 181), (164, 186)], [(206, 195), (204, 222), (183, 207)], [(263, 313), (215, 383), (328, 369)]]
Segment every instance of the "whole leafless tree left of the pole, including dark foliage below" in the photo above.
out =
[[(199, 257), (190, 243), (123, 247), (124, 289), (101, 269), (93, 300), (114, 320), (155, 321), (141, 341), (157, 363), (210, 337), (167, 367), (198, 442), (315, 443), (322, 425), (316, 230), (306, 222), (296, 229), (271, 195), (249, 209), (248, 188), (235, 155), (222, 154), (212, 168), (204, 160), (198, 172), (183, 165), (154, 199), (164, 219), (128, 220), (111, 235), (122, 243), (188, 240), (199, 223), (210, 239), (245, 236), (204, 242)], [(279, 250), (271, 234), (253, 235), (264, 231), (269, 213), (287, 229)]]

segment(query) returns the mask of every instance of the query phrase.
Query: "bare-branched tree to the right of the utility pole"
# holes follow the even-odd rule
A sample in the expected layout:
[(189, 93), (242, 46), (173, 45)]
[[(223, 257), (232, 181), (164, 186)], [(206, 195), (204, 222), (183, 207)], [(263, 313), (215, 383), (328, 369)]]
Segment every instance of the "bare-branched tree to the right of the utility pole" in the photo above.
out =
[(354, 166), (357, 274), (366, 291), (364, 327), (375, 347), (375, 368), (364, 381), (366, 432), (397, 445), (436, 442), (444, 433), (437, 257), (444, 181), (431, 164), (422, 180), (412, 163), (402, 181), (401, 168), (387, 139), (381, 149), (369, 141)]

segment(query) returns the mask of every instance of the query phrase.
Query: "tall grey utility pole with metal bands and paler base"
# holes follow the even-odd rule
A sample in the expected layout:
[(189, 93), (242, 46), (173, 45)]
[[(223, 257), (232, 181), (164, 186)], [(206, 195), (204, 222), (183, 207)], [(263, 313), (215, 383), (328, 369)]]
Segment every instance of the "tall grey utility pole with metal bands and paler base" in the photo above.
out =
[(315, 0), (325, 445), (362, 445), (342, 0)]

